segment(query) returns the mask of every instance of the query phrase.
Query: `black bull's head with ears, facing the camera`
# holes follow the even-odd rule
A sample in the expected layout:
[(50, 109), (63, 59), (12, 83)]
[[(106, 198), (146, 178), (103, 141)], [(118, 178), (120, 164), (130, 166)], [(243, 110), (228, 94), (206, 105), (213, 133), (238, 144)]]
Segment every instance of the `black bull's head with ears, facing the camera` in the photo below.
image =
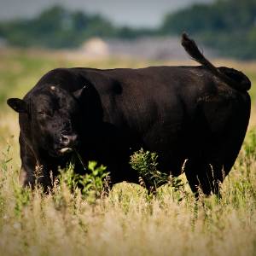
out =
[(69, 93), (49, 85), (35, 91), (29, 100), (10, 98), (8, 104), (16, 112), (27, 114), (32, 142), (51, 156), (59, 157), (78, 145), (79, 97), (83, 90)]

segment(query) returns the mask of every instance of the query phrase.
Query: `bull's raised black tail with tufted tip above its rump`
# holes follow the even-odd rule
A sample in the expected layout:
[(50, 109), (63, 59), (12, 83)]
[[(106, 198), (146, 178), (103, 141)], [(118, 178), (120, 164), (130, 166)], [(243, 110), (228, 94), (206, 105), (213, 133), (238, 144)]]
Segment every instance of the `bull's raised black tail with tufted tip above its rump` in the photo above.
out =
[(251, 88), (251, 82), (244, 73), (228, 67), (214, 67), (210, 61), (208, 61), (201, 51), (198, 49), (195, 41), (190, 39), (186, 33), (182, 35), (183, 48), (186, 52), (202, 66), (207, 67), (218, 79), (229, 84), (236, 90), (246, 91)]

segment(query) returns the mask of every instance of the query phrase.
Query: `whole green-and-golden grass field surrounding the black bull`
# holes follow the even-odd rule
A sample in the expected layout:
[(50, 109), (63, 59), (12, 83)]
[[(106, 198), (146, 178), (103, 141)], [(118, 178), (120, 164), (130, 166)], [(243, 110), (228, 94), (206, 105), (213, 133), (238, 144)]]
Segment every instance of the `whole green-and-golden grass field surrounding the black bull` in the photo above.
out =
[[(84, 199), (67, 183), (44, 195), (18, 184), (18, 115), (5, 104), (22, 97), (55, 67), (146, 67), (194, 64), (89, 61), (65, 53), (0, 51), (0, 255), (256, 255), (256, 88), (247, 138), (221, 188), (222, 199), (195, 201), (186, 178), (148, 196), (135, 184), (119, 183), (108, 197)], [(218, 60), (256, 84), (256, 63)]]

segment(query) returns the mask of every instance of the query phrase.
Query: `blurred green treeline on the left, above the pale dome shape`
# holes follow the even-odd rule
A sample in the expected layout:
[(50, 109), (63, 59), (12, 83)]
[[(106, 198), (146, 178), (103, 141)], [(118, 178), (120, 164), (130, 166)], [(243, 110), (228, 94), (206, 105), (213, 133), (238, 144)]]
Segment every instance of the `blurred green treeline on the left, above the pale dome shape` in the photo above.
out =
[(73, 48), (91, 37), (137, 38), (154, 33), (148, 29), (116, 27), (102, 15), (88, 15), (61, 6), (44, 10), (30, 20), (0, 22), (0, 38), (14, 46)]

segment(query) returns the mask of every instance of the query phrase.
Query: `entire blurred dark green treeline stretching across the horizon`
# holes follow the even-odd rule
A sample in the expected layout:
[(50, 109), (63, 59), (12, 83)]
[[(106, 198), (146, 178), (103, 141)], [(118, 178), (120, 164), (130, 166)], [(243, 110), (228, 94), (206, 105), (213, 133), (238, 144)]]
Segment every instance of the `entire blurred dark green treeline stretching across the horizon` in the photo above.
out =
[(60, 6), (30, 20), (2, 21), (0, 38), (22, 47), (73, 48), (91, 37), (133, 39), (142, 36), (180, 35), (189, 32), (221, 55), (256, 58), (256, 1), (218, 0), (197, 3), (167, 14), (157, 29), (114, 26), (102, 15), (69, 11)]

